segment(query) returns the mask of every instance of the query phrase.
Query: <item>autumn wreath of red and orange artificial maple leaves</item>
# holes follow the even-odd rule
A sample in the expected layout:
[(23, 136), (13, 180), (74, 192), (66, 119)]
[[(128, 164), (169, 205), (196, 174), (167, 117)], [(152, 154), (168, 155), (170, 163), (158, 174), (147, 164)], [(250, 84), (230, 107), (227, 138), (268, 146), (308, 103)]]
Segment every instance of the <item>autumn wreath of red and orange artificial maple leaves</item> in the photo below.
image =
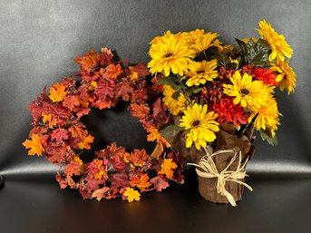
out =
[[(161, 102), (162, 86), (149, 76), (145, 64), (117, 62), (108, 48), (91, 50), (75, 59), (80, 72), (53, 83), (29, 105), (34, 121), (29, 139), (23, 145), (29, 155), (42, 156), (59, 166), (56, 180), (61, 189), (78, 189), (83, 199), (140, 200), (141, 193), (169, 187), (169, 180), (182, 183), (184, 159), (170, 149), (157, 130), (168, 121), (167, 107)], [(155, 150), (126, 151), (115, 142), (94, 152), (92, 160), (83, 157), (91, 150), (93, 136), (83, 123), (92, 109), (111, 109), (128, 102), (131, 115), (148, 131)]]

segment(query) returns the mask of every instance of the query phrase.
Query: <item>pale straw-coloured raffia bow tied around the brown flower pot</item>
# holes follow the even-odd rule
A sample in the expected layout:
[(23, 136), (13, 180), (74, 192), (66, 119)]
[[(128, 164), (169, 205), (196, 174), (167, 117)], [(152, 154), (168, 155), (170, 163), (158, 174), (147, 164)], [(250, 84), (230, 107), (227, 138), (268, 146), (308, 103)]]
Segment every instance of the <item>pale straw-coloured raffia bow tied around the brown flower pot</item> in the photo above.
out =
[[(247, 183), (241, 181), (248, 175), (246, 174), (245, 167), (248, 163), (248, 159), (244, 161), (242, 164), (242, 153), (239, 151), (238, 153), (235, 150), (218, 150), (212, 154), (209, 154), (208, 150), (206, 151), (206, 155), (199, 160), (199, 164), (196, 163), (188, 163), (189, 165), (197, 167), (196, 172), (200, 177), (203, 178), (217, 178), (217, 191), (220, 195), (225, 196), (229, 203), (232, 206), (237, 206), (237, 203), (233, 196), (228, 192), (226, 187), (227, 181), (237, 182), (238, 184), (244, 185), (249, 190), (253, 190)], [(217, 156), (221, 153), (233, 152), (234, 156), (228, 163), (228, 166), (219, 172), (217, 170), (216, 164), (213, 160), (214, 156)], [(232, 165), (232, 163), (238, 159), (238, 167), (236, 170), (228, 170), (228, 168)]]

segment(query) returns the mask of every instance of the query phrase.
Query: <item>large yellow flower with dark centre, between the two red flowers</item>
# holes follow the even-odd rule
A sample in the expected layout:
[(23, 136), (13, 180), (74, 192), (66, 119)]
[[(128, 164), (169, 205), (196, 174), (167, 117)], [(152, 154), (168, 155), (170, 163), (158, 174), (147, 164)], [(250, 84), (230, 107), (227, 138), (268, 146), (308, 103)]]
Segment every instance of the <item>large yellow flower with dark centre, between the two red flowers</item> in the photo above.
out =
[(244, 73), (243, 77), (237, 71), (230, 78), (232, 84), (224, 84), (224, 93), (234, 96), (234, 104), (240, 104), (243, 108), (248, 108), (252, 112), (257, 112), (265, 102), (273, 89), (261, 81), (252, 81), (252, 76)]

